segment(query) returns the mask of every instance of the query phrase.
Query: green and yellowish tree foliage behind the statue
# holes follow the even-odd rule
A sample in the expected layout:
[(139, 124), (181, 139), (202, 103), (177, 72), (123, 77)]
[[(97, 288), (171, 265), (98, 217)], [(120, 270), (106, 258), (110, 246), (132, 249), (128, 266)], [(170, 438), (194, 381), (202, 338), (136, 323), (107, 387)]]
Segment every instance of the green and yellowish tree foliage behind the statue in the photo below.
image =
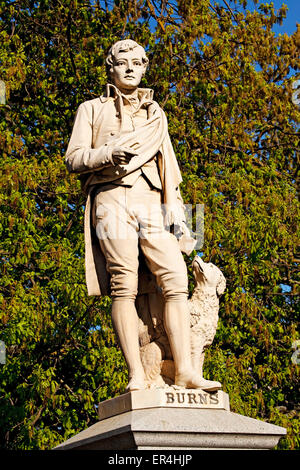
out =
[(227, 278), (205, 376), (299, 447), (300, 30), (275, 36), (286, 7), (255, 4), (0, 1), (2, 447), (52, 448), (124, 390), (110, 299), (87, 297), (85, 200), (64, 165), (76, 108), (103, 91), (122, 37), (149, 51), (144, 85), (167, 113), (184, 200), (205, 204), (203, 257)]

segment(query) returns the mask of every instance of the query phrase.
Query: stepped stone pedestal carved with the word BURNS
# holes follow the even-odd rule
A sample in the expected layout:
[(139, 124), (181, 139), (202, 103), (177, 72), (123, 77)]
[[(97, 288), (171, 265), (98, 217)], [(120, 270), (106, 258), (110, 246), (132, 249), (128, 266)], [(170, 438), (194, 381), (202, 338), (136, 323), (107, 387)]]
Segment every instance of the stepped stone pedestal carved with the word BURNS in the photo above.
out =
[(232, 413), (222, 391), (157, 389), (99, 404), (99, 422), (59, 450), (272, 449), (285, 428)]

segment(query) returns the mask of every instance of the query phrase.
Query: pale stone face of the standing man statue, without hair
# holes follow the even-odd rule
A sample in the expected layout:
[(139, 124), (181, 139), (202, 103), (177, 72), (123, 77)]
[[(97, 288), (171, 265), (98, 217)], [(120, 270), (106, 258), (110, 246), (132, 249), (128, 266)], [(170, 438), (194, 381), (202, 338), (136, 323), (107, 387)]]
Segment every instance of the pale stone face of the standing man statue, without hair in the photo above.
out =
[(146, 71), (146, 64), (142, 62), (143, 51), (135, 47), (128, 52), (119, 52), (111, 69), (111, 77), (117, 88), (135, 90)]

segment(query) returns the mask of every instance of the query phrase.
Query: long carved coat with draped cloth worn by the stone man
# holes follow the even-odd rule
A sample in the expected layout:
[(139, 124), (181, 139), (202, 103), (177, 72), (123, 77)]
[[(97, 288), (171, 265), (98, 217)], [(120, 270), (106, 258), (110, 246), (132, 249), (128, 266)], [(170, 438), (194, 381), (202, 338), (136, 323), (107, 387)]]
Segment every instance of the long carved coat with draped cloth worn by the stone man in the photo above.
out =
[[(76, 113), (71, 139), (66, 152), (70, 172), (77, 173), (87, 194), (84, 234), (85, 273), (89, 295), (108, 295), (109, 277), (106, 262), (91, 223), (93, 191), (99, 184), (119, 180), (141, 168), (158, 156), (162, 182), (166, 225), (185, 225), (184, 206), (179, 184), (182, 181), (176, 156), (168, 134), (163, 110), (153, 100), (153, 91), (138, 89), (140, 100), (147, 107), (147, 121), (135, 131), (122, 133), (123, 99), (114, 85), (107, 85), (106, 94), (82, 103)], [(111, 132), (111, 130), (117, 132)], [(113, 134), (113, 135), (112, 135)], [(132, 147), (138, 153), (130, 162), (115, 166), (112, 151), (115, 146)], [(180, 249), (190, 253), (196, 241), (189, 236), (186, 226), (179, 239)]]

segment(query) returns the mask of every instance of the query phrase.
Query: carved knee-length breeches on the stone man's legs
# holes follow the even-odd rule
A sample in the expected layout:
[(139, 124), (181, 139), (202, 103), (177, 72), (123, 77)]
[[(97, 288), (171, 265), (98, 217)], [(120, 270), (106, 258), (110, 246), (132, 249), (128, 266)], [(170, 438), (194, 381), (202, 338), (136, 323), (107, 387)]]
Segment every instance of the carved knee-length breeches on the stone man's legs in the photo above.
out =
[(94, 226), (106, 258), (111, 296), (134, 301), (139, 248), (166, 301), (187, 299), (188, 278), (176, 237), (165, 230), (160, 191), (140, 176), (133, 187), (105, 185), (95, 197)]

